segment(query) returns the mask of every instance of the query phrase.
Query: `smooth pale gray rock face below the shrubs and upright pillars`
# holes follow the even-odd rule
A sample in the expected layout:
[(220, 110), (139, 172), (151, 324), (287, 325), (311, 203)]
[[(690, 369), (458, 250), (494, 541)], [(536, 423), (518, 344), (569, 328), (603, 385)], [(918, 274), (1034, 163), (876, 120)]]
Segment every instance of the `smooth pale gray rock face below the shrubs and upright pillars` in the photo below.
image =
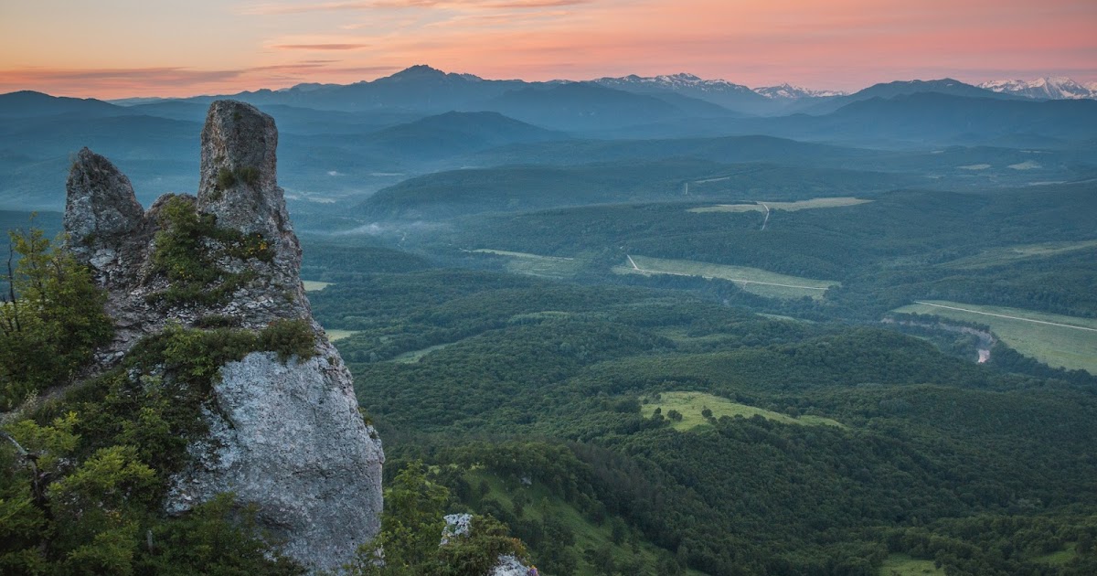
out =
[(173, 478), (169, 510), (231, 490), (261, 505), (260, 520), (286, 539), (286, 554), (320, 569), (372, 539), (384, 455), (358, 415), (350, 374), (328, 358), (283, 364), (252, 352), (226, 364), (214, 386), (223, 414), (211, 415), (210, 441), (191, 447), (199, 464)]

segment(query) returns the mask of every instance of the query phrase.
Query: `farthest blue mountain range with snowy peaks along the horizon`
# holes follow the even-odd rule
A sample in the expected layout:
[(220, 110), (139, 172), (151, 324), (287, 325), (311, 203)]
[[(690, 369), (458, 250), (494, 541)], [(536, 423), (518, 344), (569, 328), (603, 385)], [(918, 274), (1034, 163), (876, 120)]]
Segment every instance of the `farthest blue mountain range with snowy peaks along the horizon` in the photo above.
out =
[[(570, 84), (601, 87), (562, 88)], [(517, 93), (514, 93), (517, 92)], [(986, 82), (973, 86), (945, 78), (940, 80), (912, 80), (879, 83), (852, 94), (840, 91), (810, 90), (789, 83), (749, 88), (727, 80), (702, 79), (690, 74), (675, 74), (655, 77), (630, 75), (619, 78), (598, 78), (574, 82), (553, 80), (528, 82), (524, 80), (487, 80), (471, 74), (444, 72), (426, 65), (417, 65), (392, 76), (351, 84), (302, 83), (282, 90), (257, 90), (226, 94), (256, 105), (287, 105), (316, 110), (342, 112), (414, 111), (443, 113), (449, 111), (477, 112), (493, 110), (507, 114), (516, 109), (538, 105), (547, 98), (561, 94), (584, 93), (588, 103), (598, 93), (600, 104), (592, 109), (572, 106), (567, 111), (557, 110), (557, 116), (569, 117), (573, 128), (585, 128), (592, 124), (604, 127), (608, 111), (648, 109), (656, 113), (652, 120), (672, 116), (711, 116), (730, 113), (748, 115), (781, 115), (795, 112), (822, 114), (833, 112), (841, 105), (858, 100), (881, 97), (891, 98), (900, 93), (941, 92), (974, 98), (1015, 97), (1030, 100), (1097, 98), (1094, 87), (1086, 87), (1070, 79), (1041, 79), (1033, 82), (1019, 80)], [(644, 99), (625, 94), (642, 95)], [(194, 97), (181, 101), (207, 105), (215, 98)], [(671, 108), (653, 102), (661, 100)], [(523, 103), (523, 101), (525, 101)], [(156, 99), (128, 99), (116, 101), (121, 105), (155, 105)], [(706, 105), (708, 104), (708, 105)], [(661, 109), (657, 110), (657, 109)], [(540, 114), (540, 113), (539, 113)], [(508, 114), (510, 115), (510, 114)], [(610, 114), (614, 115), (614, 114)], [(615, 114), (620, 115), (620, 114)], [(516, 117), (536, 123), (536, 114)], [(586, 121), (583, 121), (583, 117)], [(558, 117), (555, 120), (559, 120)], [(597, 122), (591, 122), (597, 121)]]

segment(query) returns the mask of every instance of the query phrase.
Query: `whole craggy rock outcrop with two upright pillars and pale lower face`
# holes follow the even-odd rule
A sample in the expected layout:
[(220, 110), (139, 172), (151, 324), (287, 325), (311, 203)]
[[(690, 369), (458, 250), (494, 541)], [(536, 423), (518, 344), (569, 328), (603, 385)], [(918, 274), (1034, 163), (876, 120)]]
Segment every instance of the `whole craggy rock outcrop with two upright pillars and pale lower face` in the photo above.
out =
[[(222, 366), (204, 411), (210, 434), (189, 447), (191, 464), (172, 477), (165, 507), (178, 513), (231, 492), (258, 505), (260, 521), (291, 557), (324, 571), (349, 561), (380, 530), (384, 455), (358, 413), (350, 372), (312, 317), (301, 246), (276, 181), (276, 146), (273, 118), (245, 103), (214, 102), (202, 131), (197, 195), (166, 194), (148, 212), (117, 168), (83, 149), (69, 174), (65, 227), (73, 252), (106, 289), (116, 325), (100, 369), (169, 325), (216, 318), (245, 329), (281, 319), (312, 326), (315, 354), (307, 360), (257, 351)], [(172, 237), (182, 225), (171, 218), (180, 214), (190, 234), (182, 245)], [(171, 242), (200, 253), (170, 261)], [(191, 275), (202, 283), (180, 291)]]

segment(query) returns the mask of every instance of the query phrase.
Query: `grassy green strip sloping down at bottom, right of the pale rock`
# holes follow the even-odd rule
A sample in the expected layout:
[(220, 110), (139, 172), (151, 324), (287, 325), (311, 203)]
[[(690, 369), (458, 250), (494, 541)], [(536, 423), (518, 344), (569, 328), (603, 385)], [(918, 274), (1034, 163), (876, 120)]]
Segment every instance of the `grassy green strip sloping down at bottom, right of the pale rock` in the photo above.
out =
[[(575, 544), (570, 549), (575, 552), (576, 560), (578, 561), (575, 572), (576, 576), (596, 576), (599, 574), (596, 567), (591, 566), (584, 557), (583, 551), (586, 550), (596, 550), (600, 553), (608, 552), (614, 557), (621, 558), (631, 558), (638, 555), (649, 564), (654, 564), (658, 558), (658, 549), (637, 534), (626, 533), (624, 539), (621, 539), (619, 543), (614, 543), (611, 522), (595, 523), (576, 509), (575, 506), (556, 496), (540, 483), (524, 485), (505, 479), (484, 468), (467, 471), (465, 479), (471, 486), (480, 486), (482, 483), (486, 485), (488, 492), (484, 495), (484, 498), (496, 500), (511, 512), (516, 511), (514, 500), (523, 500), (525, 505), (521, 507), (521, 515), (516, 515), (522, 520), (543, 522), (545, 519), (552, 519), (570, 530), (575, 535)], [(704, 573), (693, 569), (687, 569), (682, 574), (688, 576), (704, 576)]]

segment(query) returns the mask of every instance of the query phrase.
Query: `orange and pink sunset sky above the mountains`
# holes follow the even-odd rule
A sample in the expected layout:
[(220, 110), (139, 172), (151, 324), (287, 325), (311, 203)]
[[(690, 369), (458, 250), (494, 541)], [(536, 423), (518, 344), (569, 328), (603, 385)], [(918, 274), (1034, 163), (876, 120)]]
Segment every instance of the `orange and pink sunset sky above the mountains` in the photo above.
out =
[(0, 0), (0, 92), (118, 99), (690, 72), (749, 87), (1097, 81), (1095, 0)]

